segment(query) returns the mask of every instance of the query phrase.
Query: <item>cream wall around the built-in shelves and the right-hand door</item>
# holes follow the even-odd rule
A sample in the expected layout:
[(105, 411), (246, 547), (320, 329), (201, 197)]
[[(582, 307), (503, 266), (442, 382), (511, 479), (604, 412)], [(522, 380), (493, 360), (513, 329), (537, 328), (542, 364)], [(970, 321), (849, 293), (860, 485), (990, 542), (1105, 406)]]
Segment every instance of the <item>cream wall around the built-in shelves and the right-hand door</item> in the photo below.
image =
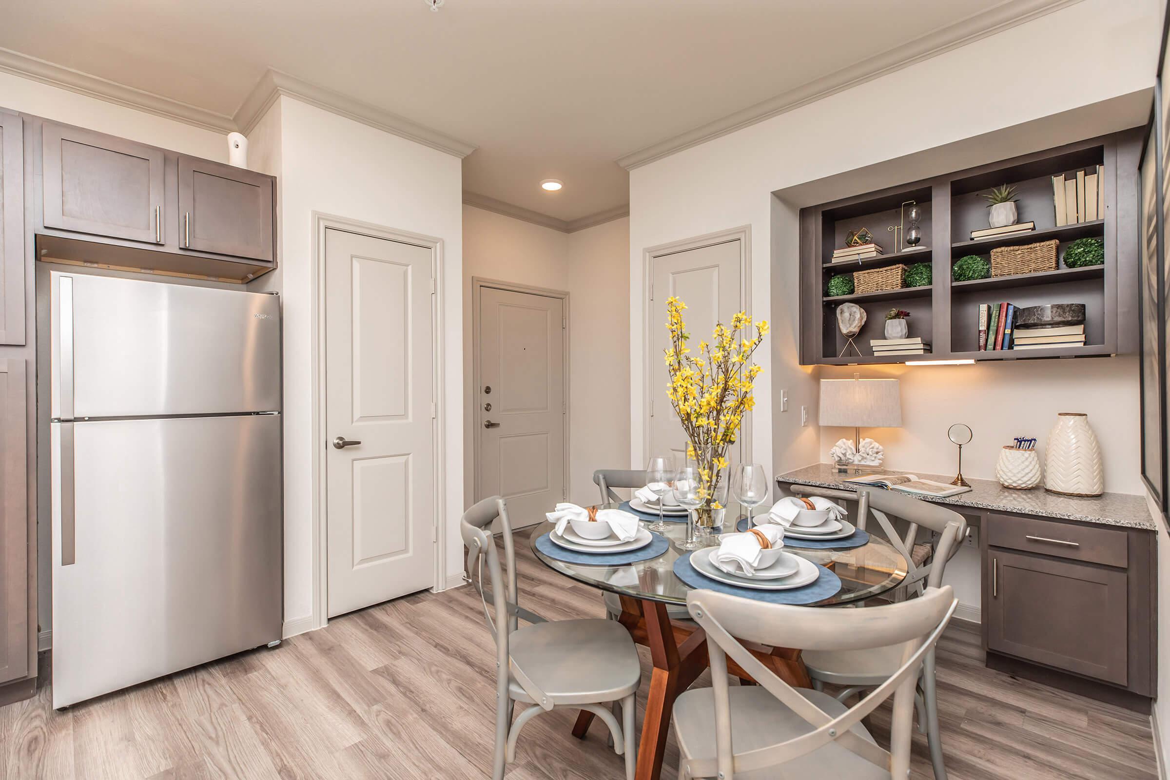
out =
[[(799, 421), (801, 405), (807, 406), (810, 413), (815, 409), (817, 382), (814, 370), (796, 365), (799, 332), (796, 214), (776, 202), (770, 193), (1148, 89), (1157, 60), (1158, 19), (1158, 0), (1124, 4), (1085, 0), (632, 171), (629, 402), (633, 461), (639, 462), (645, 455), (644, 248), (741, 225), (751, 227), (752, 313), (773, 323), (771, 351), (760, 359), (765, 379), (758, 384), (752, 460), (776, 472), (815, 462), (824, 455), (821, 437), (814, 428), (815, 417), (804, 430)], [(1097, 46), (1081, 53), (1078, 77), (1068, 78), (1066, 58), (1052, 56), (1054, 50), (1060, 50), (1053, 48), (1054, 42), (1081, 40), (1087, 30), (1092, 30)], [(997, 89), (989, 91), (989, 62), (1010, 62), (1017, 77), (997, 83)], [(961, 99), (930, 99), (940, 94), (978, 95), (979, 108), (971, 110), (971, 105)], [(907, 111), (907, 95), (924, 99), (914, 111)], [(866, 120), (863, 127), (859, 127), (856, 106), (862, 104)], [(772, 232), (773, 210), (780, 226), (776, 235)], [(1025, 368), (1019, 364), (1004, 366), (1003, 374), (980, 367), (970, 374), (977, 379), (972, 380), (975, 384), (969, 387), (968, 398), (986, 399), (977, 407), (978, 414), (992, 409), (1000, 413), (1004, 405), (994, 400), (993, 378), (1012, 371), (1020, 372), (1016, 377), (1030, 372), (1039, 375), (1046, 371), (1064, 377), (1075, 371), (1079, 378), (1093, 378), (1092, 381), (1078, 381), (1082, 406), (1092, 414), (1119, 401), (1113, 392), (1117, 387), (1117, 382), (1112, 381), (1113, 367), (1130, 372), (1129, 381), (1136, 384), (1134, 365), (1131, 360), (1113, 364), (1079, 360), (1075, 368)], [(903, 406), (944, 405), (935, 393), (937, 377), (952, 375), (957, 374), (944, 372), (935, 379), (923, 374), (921, 380), (908, 382), (911, 386), (903, 391)], [(1122, 384), (1126, 379), (1123, 374)], [(772, 399), (772, 393), (778, 395), (782, 388), (789, 391), (786, 413), (778, 412)], [(1052, 414), (1057, 410), (1052, 407)], [(1045, 420), (1051, 421), (1051, 414)], [(1112, 484), (1135, 490), (1133, 476), (1122, 470), (1131, 469), (1133, 453), (1137, 449), (1136, 415), (1122, 422), (1117, 430), (1108, 432), (1110, 447), (1126, 451), (1117, 460), (1119, 468), (1110, 468), (1117, 475)], [(915, 429), (911, 435), (927, 442), (934, 435), (928, 428), (934, 424), (932, 419), (928, 420), (925, 427)], [(942, 433), (945, 435), (945, 428)], [(1099, 428), (1099, 433), (1104, 432)], [(991, 440), (999, 433), (989, 430), (986, 435)], [(906, 446), (910, 443), (907, 439)], [(906, 457), (909, 462), (910, 456)]]

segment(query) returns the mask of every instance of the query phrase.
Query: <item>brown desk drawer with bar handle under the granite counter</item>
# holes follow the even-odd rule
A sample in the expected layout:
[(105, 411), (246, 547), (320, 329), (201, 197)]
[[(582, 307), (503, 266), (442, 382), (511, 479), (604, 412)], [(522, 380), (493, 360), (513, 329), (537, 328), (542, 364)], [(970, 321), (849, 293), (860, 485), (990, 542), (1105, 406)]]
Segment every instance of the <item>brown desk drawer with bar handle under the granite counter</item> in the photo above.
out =
[(1129, 541), (1123, 530), (989, 513), (986, 534), (987, 545), (992, 547), (1023, 550), (1117, 568), (1127, 568), (1129, 565)]

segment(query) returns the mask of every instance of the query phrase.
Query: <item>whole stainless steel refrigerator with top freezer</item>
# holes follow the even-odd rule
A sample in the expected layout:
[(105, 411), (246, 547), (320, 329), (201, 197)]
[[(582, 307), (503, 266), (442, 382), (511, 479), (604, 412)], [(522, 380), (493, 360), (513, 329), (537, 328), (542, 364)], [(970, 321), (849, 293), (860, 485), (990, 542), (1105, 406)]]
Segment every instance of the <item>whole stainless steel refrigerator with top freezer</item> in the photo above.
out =
[(53, 705), (278, 641), (275, 295), (53, 272)]

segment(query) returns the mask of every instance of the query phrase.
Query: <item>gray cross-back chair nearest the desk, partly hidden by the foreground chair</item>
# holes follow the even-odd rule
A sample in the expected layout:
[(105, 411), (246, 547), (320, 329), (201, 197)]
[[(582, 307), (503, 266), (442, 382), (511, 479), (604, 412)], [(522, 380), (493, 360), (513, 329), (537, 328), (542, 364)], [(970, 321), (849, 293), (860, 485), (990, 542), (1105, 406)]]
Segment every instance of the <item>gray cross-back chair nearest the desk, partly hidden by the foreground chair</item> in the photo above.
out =
[[(910, 595), (921, 594), (925, 588), (942, 586), (947, 561), (958, 552), (966, 538), (966, 520), (958, 512), (945, 506), (920, 501), (892, 490), (866, 489), (861, 498), (868, 498), (869, 511), (889, 537), (890, 544), (909, 561), (907, 554), (914, 543), (918, 527), (932, 532), (936, 541), (930, 562), (925, 566), (909, 564), (909, 574), (899, 586)], [(899, 538), (889, 516), (901, 518), (909, 524), (909, 531)], [(899, 667), (899, 649), (896, 647), (874, 648), (868, 650), (805, 650), (800, 656), (813, 685), (818, 689), (825, 683), (844, 685), (837, 695), (841, 702), (854, 693), (880, 685)], [(938, 729), (938, 700), (935, 682), (935, 653), (927, 654), (918, 679), (918, 729), (927, 734), (930, 744), (930, 762), (934, 765), (935, 780), (947, 780), (947, 768), (943, 764), (942, 734)]]

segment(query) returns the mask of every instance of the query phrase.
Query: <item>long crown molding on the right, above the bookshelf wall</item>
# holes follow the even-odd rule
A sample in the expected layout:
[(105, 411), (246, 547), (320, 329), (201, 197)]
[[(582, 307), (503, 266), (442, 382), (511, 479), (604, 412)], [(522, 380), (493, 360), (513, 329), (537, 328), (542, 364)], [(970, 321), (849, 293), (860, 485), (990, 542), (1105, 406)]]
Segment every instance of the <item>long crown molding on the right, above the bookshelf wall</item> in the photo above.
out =
[(1002, 2), (994, 8), (928, 33), (903, 46), (895, 47), (842, 68), (827, 76), (782, 92), (776, 97), (736, 111), (722, 119), (695, 127), (673, 138), (651, 144), (638, 151), (619, 157), (617, 163), (627, 171), (647, 165), (676, 152), (698, 146), (709, 140), (743, 130), (765, 119), (799, 109), (821, 98), (849, 88), (880, 78), (923, 60), (938, 56), (952, 49), (973, 43), (1006, 29), (1030, 22), (1054, 11), (1081, 2), (1081, 0), (1019, 0)]

